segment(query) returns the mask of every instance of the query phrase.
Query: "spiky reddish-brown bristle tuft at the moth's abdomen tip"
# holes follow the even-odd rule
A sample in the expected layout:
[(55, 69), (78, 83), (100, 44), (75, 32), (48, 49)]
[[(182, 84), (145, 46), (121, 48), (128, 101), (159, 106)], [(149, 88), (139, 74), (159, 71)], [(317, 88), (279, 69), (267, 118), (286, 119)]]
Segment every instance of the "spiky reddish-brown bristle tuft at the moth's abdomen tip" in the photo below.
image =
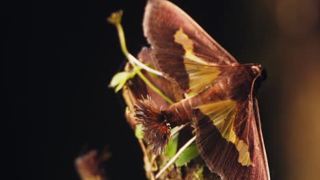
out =
[(170, 140), (170, 123), (165, 118), (165, 113), (155, 102), (147, 96), (138, 100), (135, 104), (135, 117), (138, 123), (142, 123), (144, 139), (156, 155), (165, 151), (165, 145)]

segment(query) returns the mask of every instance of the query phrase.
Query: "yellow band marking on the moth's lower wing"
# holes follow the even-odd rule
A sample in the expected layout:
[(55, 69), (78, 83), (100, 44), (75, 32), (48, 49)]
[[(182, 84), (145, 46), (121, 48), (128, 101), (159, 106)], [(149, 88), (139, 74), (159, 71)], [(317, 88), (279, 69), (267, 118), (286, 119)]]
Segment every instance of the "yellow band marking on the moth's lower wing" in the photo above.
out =
[(250, 160), (248, 145), (246, 145), (243, 140), (240, 140), (233, 130), (237, 114), (237, 103), (232, 100), (224, 100), (204, 104), (198, 106), (198, 108), (213, 121), (213, 124), (217, 127), (222, 137), (235, 145), (239, 152), (238, 162), (242, 166), (253, 166), (254, 164), (252, 164)]

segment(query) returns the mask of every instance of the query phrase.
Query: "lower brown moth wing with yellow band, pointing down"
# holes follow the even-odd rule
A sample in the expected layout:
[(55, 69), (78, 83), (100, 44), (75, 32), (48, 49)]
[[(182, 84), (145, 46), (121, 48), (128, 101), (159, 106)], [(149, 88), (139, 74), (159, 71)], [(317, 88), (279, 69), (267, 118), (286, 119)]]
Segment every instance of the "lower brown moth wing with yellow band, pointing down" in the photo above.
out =
[(199, 106), (194, 119), (198, 150), (212, 172), (222, 179), (270, 179), (256, 99)]

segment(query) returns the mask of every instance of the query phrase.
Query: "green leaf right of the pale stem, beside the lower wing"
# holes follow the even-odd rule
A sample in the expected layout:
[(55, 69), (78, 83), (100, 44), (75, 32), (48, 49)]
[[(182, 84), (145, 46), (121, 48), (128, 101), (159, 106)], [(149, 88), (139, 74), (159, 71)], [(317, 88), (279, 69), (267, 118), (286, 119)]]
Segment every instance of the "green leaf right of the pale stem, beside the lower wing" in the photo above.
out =
[(176, 160), (176, 166), (183, 166), (199, 155), (196, 142), (192, 142)]

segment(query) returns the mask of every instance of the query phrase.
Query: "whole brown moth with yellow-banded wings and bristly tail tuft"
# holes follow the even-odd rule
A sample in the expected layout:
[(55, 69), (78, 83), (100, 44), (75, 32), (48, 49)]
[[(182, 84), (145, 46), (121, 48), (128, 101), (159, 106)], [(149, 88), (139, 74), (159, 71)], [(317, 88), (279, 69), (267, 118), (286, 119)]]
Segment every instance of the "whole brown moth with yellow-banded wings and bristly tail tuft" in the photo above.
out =
[(151, 98), (135, 104), (135, 117), (156, 154), (172, 127), (192, 123), (201, 157), (222, 179), (270, 179), (256, 92), (262, 65), (240, 64), (179, 7), (148, 0), (143, 55), (185, 98), (161, 108)]

